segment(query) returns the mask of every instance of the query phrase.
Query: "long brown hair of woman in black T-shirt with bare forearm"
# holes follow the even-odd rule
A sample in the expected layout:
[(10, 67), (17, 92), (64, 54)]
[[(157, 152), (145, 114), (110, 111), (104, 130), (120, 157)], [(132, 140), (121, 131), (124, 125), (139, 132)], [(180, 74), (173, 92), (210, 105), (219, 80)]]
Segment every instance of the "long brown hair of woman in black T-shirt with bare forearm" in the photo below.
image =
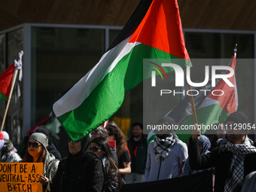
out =
[(126, 150), (126, 141), (124, 139), (123, 132), (118, 126), (114, 126), (111, 124), (108, 124), (108, 126), (106, 126), (106, 129), (111, 135), (114, 135), (114, 139), (117, 142), (117, 156), (120, 157)]

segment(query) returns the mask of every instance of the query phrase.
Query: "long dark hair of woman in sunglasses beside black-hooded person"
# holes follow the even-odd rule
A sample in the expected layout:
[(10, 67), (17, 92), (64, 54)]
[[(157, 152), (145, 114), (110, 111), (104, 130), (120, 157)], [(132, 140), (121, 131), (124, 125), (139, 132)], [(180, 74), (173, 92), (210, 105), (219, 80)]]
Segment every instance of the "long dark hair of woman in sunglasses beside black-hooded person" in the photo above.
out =
[[(102, 151), (105, 151), (105, 172), (107, 175), (107, 183), (111, 181), (115, 181), (115, 178), (117, 176), (118, 181), (118, 190), (120, 190), (122, 181), (120, 177), (120, 172), (117, 166), (117, 163), (114, 160), (113, 154), (110, 150), (110, 147), (108, 145), (108, 140), (102, 137), (98, 137), (93, 139), (90, 143), (95, 143), (99, 147), (102, 148)], [(114, 169), (114, 173), (112, 172), (112, 169)]]

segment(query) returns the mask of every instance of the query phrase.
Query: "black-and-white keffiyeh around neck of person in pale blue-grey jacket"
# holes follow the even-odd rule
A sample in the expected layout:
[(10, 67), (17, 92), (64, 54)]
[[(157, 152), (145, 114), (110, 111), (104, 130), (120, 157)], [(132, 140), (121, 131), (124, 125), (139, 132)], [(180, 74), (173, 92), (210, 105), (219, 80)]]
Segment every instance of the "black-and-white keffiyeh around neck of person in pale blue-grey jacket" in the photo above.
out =
[(160, 157), (167, 157), (169, 151), (175, 143), (178, 141), (178, 136), (175, 134), (170, 134), (166, 139), (160, 139), (159, 137), (155, 136), (154, 138), (154, 154), (155, 160), (157, 162), (160, 161)]

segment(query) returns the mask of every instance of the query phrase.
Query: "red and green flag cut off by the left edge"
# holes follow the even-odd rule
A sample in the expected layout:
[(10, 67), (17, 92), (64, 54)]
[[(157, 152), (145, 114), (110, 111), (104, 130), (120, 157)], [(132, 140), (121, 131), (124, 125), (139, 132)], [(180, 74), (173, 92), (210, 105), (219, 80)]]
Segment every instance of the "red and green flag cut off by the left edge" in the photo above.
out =
[(14, 63), (0, 75), (0, 100), (7, 101), (11, 92), (11, 81), (14, 76)]

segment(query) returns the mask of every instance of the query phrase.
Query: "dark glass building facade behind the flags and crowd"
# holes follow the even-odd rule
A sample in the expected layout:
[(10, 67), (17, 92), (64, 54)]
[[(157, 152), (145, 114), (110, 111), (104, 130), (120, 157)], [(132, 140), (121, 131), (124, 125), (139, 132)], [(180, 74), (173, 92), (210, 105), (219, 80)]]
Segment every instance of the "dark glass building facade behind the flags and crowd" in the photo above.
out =
[[(122, 27), (47, 25), (26, 23), (15, 29), (0, 32), (0, 72), (14, 62), (20, 50), (23, 56), (23, 81), (14, 87), (5, 130), (11, 133), (14, 145), (47, 117), (56, 102), (78, 82), (101, 58)], [(255, 32), (184, 29), (187, 51), (190, 58), (231, 58), (238, 44), (237, 58), (254, 58)], [(194, 65), (191, 76), (197, 75)], [(237, 66), (236, 74), (254, 77), (251, 69)], [(246, 81), (246, 86), (244, 86)], [(239, 109), (248, 111), (255, 119), (254, 79), (242, 78), (238, 82)], [(18, 90), (21, 96), (18, 97)], [(142, 84), (126, 93), (117, 117), (128, 117), (132, 122), (143, 120)], [(246, 94), (245, 94), (246, 90)], [(182, 98), (170, 101), (175, 106)], [(250, 100), (250, 104), (248, 104)], [(6, 102), (0, 101), (0, 119), (5, 114)]]

